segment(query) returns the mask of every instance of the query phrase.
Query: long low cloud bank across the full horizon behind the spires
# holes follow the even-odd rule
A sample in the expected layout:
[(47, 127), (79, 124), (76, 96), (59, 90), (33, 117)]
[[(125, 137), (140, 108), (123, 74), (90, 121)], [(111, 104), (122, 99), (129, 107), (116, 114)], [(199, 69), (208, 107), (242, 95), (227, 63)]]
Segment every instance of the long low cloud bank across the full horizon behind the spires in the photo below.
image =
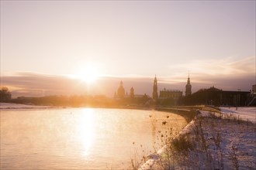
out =
[[(254, 57), (240, 60), (231, 58), (220, 60), (194, 61), (189, 64), (172, 66), (171, 69), (192, 68), (190, 77), (192, 92), (201, 88), (215, 86), (223, 90), (251, 90), (255, 84)], [(184, 71), (182, 72), (184, 73)], [(176, 71), (172, 76), (157, 76), (158, 90), (182, 90), (188, 75), (179, 74)], [(40, 73), (15, 73), (1, 76), (1, 86), (9, 87), (13, 97), (40, 97), (47, 95), (82, 95), (82, 94), (104, 94), (113, 97), (123, 80), (127, 93), (133, 87), (135, 93), (147, 93), (151, 96), (154, 75), (128, 75), (128, 76), (101, 76), (95, 83), (87, 84), (81, 80), (71, 79), (65, 75), (47, 75)]]

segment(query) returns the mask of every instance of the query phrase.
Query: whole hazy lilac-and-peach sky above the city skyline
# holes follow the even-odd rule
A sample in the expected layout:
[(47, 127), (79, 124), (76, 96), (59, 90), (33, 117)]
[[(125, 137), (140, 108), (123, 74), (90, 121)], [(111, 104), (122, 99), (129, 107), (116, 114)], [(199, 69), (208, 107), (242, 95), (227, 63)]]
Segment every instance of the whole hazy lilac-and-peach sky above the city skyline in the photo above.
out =
[(185, 91), (189, 74), (192, 92), (248, 91), (255, 32), (255, 1), (1, 0), (1, 86), (112, 96), (123, 80), (151, 95), (155, 75), (158, 90)]

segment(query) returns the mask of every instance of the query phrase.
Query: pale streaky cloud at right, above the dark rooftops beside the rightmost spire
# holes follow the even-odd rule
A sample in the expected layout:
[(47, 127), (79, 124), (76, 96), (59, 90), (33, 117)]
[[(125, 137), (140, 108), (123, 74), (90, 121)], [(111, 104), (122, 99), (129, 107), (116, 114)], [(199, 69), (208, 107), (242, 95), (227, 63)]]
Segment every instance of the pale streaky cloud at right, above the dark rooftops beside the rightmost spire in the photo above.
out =
[[(175, 80), (182, 82), (184, 70), (190, 70), (190, 77), (194, 87), (216, 86), (223, 90), (250, 90), (255, 84), (255, 56), (247, 56), (242, 59), (227, 57), (224, 59), (192, 60), (190, 63), (182, 63), (169, 66), (174, 76), (165, 81)], [(183, 71), (181, 71), (183, 70)]]

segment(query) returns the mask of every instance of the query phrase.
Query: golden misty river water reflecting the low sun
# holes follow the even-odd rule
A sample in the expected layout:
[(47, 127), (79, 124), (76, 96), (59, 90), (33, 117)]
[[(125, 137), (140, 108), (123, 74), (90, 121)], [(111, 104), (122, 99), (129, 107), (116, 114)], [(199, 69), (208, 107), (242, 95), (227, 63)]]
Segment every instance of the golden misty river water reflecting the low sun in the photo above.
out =
[(0, 111), (1, 169), (127, 169), (131, 159), (154, 151), (158, 131), (181, 131), (186, 124), (156, 110)]

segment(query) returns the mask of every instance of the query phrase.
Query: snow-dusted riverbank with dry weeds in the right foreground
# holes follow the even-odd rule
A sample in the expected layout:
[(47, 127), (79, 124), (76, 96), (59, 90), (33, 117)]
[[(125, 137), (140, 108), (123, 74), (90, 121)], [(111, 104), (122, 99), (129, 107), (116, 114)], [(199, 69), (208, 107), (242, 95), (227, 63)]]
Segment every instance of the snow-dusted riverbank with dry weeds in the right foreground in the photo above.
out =
[(139, 169), (255, 169), (255, 109), (239, 107), (234, 113), (234, 108), (203, 107)]

